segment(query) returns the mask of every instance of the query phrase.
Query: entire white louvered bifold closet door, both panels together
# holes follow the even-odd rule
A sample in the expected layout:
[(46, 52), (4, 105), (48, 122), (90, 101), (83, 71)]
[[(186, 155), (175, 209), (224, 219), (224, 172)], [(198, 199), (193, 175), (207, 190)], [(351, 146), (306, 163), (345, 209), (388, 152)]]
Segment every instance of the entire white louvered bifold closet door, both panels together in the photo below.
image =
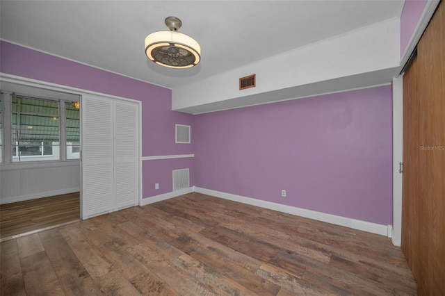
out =
[(82, 98), (82, 219), (139, 202), (140, 104)]

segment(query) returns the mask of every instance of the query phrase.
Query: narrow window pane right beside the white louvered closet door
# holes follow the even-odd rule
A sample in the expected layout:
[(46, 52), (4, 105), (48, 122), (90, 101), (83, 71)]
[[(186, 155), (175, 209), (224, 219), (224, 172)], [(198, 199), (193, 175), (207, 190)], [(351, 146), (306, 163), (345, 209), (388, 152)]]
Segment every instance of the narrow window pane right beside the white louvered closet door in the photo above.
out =
[(66, 135), (67, 135), (67, 159), (79, 158), (80, 151), (80, 125), (79, 105), (65, 103)]

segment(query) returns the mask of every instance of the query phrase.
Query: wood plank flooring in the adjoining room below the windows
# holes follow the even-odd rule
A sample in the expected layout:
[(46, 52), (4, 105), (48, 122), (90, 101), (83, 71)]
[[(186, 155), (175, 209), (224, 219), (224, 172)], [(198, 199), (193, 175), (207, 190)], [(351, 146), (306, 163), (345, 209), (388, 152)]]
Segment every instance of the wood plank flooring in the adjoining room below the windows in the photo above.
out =
[(79, 192), (0, 205), (0, 238), (80, 219)]

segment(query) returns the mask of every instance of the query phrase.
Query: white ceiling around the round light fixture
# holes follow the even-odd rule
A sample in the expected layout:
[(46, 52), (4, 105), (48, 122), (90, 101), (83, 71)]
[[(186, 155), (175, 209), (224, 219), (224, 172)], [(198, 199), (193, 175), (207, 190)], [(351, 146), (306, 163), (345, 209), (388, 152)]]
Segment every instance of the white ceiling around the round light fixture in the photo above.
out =
[[(403, 0), (350, 1), (3, 1), (8, 40), (142, 81), (175, 88), (305, 44), (400, 17)], [(145, 56), (145, 36), (165, 17), (201, 44), (191, 69)]]

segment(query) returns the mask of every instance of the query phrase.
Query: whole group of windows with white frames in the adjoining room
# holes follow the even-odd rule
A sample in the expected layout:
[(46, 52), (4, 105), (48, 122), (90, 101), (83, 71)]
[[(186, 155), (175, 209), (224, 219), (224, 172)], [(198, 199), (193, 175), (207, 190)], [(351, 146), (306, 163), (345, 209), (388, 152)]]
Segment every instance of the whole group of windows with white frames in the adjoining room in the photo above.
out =
[(80, 99), (63, 90), (2, 81), (0, 162), (79, 158)]

